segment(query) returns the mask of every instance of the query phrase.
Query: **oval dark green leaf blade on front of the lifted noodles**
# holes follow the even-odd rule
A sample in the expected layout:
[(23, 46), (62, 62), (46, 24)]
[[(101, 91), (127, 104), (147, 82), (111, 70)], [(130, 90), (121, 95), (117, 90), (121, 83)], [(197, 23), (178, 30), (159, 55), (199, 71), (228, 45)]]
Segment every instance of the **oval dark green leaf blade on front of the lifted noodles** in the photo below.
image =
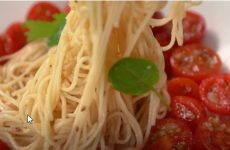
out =
[(109, 70), (109, 81), (121, 92), (142, 95), (152, 90), (159, 81), (159, 70), (150, 60), (127, 57), (116, 62)]

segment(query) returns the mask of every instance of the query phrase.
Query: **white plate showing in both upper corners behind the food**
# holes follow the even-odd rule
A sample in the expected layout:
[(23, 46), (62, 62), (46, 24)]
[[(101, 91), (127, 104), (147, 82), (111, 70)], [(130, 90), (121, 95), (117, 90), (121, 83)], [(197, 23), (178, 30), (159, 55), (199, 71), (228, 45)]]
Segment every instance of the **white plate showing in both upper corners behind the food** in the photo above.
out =
[[(33, 1), (0, 1), (0, 33), (14, 21), (24, 21), (28, 8)], [(60, 8), (63, 3), (56, 2)], [(230, 69), (230, 2), (204, 2), (194, 8), (206, 19), (207, 35), (205, 43), (218, 50), (225, 66)]]

